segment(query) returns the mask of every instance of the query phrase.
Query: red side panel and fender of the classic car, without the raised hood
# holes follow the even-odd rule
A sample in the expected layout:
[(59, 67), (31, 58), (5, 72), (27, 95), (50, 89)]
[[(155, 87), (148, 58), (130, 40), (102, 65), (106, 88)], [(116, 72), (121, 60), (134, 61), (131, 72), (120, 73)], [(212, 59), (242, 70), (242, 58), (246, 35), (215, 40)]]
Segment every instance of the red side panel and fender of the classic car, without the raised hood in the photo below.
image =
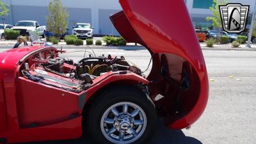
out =
[[(35, 52), (38, 49), (41, 50)], [(0, 104), (1, 108), (3, 107), (0, 111), (0, 138), (6, 138), (8, 143), (79, 138), (82, 135), (83, 110), (79, 108), (79, 97), (84, 93), (85, 102), (97, 90), (115, 81), (128, 79), (136, 83), (148, 83), (147, 79), (133, 73), (112, 75), (113, 72), (109, 72), (95, 79), (92, 88), (81, 93), (73, 93), (19, 77), (19, 68), (22, 65), (19, 63), (20, 59), (32, 52), (24, 61), (33, 63), (34, 55), (41, 52), (47, 57), (49, 51), (56, 49), (20, 47), (0, 53), (0, 77), (3, 77), (3, 83), (0, 83), (3, 87), (0, 91)], [(17, 56), (12, 58), (12, 53)], [(69, 65), (65, 67), (67, 70), (74, 68)]]

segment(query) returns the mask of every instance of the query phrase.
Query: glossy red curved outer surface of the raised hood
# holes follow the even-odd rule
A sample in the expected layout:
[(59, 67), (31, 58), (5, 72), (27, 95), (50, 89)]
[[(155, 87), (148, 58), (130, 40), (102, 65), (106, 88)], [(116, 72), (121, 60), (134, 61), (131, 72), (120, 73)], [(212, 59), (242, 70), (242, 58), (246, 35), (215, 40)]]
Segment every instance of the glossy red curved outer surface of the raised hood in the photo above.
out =
[[(198, 100), (191, 111), (169, 127), (182, 129), (193, 124), (204, 112), (209, 83), (204, 56), (184, 1), (120, 0), (136, 33), (154, 53), (172, 53), (188, 61), (200, 80)], [(189, 38), (184, 40), (184, 33)]]

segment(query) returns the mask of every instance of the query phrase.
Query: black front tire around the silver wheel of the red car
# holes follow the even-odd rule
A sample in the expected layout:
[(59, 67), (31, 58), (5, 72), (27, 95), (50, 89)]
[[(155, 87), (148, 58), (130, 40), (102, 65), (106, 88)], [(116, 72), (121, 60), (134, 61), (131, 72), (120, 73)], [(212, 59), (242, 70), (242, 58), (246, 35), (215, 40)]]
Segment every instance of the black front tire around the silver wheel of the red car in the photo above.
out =
[[(88, 115), (84, 116), (85, 127), (83, 128), (85, 132), (87, 131), (86, 134), (89, 134), (90, 138), (92, 138), (95, 143), (113, 144), (104, 136), (100, 124), (105, 111), (120, 102), (131, 102), (143, 109), (147, 118), (147, 125), (145, 126), (143, 134), (138, 140), (132, 143), (148, 143), (156, 131), (156, 108), (152, 100), (135, 86), (116, 86), (115, 88), (100, 93), (90, 107)], [(133, 127), (135, 127), (135, 125)]]

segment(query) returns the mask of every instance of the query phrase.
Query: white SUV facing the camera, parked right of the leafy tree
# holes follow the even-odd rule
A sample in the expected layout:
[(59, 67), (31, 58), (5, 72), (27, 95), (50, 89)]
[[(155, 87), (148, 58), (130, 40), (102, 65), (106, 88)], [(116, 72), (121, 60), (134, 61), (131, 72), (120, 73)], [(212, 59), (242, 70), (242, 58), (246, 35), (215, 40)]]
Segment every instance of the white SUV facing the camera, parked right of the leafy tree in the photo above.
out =
[(77, 38), (93, 38), (93, 27), (87, 23), (77, 23), (73, 26), (73, 35)]

